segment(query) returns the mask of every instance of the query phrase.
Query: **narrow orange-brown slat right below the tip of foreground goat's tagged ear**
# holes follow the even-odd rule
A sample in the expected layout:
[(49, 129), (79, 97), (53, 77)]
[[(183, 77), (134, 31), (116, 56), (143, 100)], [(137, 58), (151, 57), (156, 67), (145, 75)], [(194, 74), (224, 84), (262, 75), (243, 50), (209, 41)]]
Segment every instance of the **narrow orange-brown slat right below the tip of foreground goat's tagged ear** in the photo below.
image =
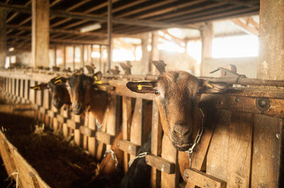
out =
[[(131, 126), (131, 98), (122, 97), (122, 139), (130, 139)], [(129, 165), (129, 154), (124, 152), (124, 172), (126, 173)]]

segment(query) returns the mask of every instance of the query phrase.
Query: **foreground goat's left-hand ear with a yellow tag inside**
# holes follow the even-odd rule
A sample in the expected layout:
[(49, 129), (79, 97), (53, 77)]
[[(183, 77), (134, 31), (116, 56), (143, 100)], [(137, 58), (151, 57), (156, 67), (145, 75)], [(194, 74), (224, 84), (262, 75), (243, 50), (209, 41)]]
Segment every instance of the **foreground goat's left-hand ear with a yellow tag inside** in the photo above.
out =
[(154, 93), (155, 81), (129, 81), (126, 87), (136, 93)]

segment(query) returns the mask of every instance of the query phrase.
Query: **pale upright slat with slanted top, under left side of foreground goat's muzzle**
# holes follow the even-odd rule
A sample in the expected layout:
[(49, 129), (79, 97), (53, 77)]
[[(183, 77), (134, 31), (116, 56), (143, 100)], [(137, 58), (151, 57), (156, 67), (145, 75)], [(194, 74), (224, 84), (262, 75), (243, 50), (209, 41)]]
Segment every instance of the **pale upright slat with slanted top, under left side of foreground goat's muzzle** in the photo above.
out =
[[(171, 163), (178, 163), (178, 151), (173, 146), (167, 135), (164, 134), (162, 141), (162, 158)], [(156, 167), (157, 168), (157, 167)], [(175, 165), (175, 173), (168, 174), (161, 169), (160, 187), (177, 187), (179, 182), (178, 165)]]

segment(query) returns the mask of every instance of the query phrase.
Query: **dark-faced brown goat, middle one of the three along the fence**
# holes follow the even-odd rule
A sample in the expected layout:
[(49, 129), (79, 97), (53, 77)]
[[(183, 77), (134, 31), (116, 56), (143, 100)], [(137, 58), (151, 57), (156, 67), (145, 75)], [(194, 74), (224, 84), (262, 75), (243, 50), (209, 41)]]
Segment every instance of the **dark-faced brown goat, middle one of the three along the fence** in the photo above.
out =
[[(70, 98), (72, 101), (72, 110), (75, 114), (82, 114), (86, 110), (94, 115), (99, 124), (102, 124), (104, 113), (107, 110), (109, 104), (109, 94), (102, 90), (94, 89), (94, 82), (100, 81), (102, 73), (97, 72), (93, 76), (86, 76), (84, 74), (73, 74), (70, 78), (63, 78), (62, 82), (67, 83), (67, 88), (70, 92)], [(118, 166), (122, 165), (124, 153), (119, 150), (117, 142), (121, 140), (122, 133), (119, 133), (111, 145), (111, 150), (114, 151), (118, 160)], [(111, 157), (111, 153), (107, 153), (105, 158), (99, 164), (99, 171), (97, 175), (114, 175), (117, 167), (115, 165), (114, 158)]]

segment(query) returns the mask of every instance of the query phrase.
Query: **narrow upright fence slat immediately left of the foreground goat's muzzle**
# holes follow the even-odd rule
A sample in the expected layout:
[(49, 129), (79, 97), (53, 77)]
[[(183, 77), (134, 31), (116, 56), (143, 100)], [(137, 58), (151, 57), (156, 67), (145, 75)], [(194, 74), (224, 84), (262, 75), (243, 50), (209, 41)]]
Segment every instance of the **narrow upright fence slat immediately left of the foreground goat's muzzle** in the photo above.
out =
[[(151, 131), (151, 153), (160, 155), (162, 146), (162, 124), (160, 123), (157, 102), (153, 101), (152, 110), (152, 131)], [(160, 170), (152, 168), (151, 187), (160, 187)]]

